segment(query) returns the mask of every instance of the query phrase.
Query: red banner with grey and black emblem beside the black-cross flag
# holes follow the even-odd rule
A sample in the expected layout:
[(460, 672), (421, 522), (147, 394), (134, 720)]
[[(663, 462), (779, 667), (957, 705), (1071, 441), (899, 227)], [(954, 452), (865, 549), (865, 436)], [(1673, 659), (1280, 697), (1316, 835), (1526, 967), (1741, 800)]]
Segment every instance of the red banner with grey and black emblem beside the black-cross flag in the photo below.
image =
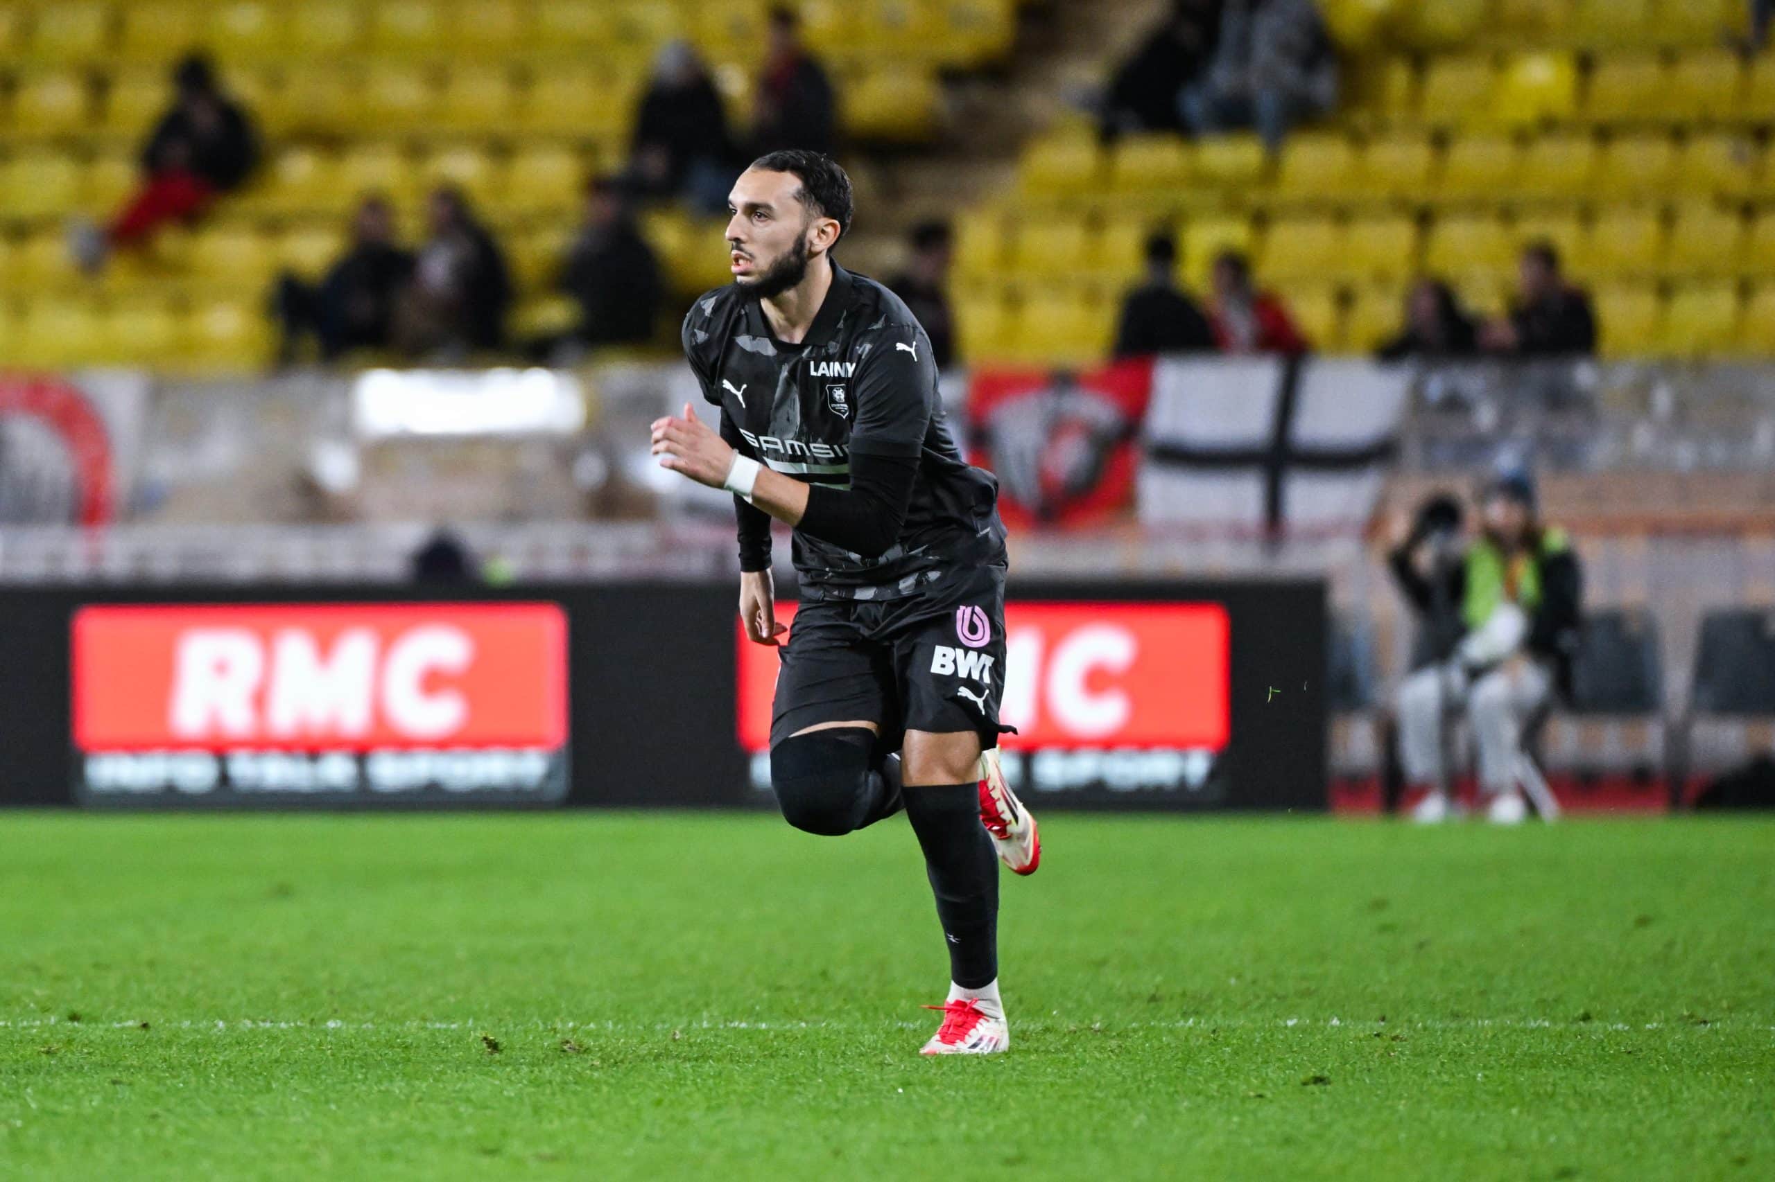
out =
[(1100, 524), (1134, 500), (1150, 398), (1152, 360), (1077, 374), (976, 371), (969, 461), (999, 477), (999, 513), (1012, 527)]

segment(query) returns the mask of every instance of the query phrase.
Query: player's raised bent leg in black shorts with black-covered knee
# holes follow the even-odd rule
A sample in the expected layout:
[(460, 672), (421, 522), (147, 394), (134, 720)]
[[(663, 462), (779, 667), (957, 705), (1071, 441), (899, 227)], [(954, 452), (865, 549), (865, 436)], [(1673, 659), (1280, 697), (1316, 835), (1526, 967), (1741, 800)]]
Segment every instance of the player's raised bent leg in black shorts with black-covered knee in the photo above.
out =
[[(840, 836), (900, 811), (898, 760), (884, 751), (891, 666), (848, 605), (801, 609), (777, 673), (770, 786), (783, 818)], [(888, 728), (891, 729), (891, 726)]]

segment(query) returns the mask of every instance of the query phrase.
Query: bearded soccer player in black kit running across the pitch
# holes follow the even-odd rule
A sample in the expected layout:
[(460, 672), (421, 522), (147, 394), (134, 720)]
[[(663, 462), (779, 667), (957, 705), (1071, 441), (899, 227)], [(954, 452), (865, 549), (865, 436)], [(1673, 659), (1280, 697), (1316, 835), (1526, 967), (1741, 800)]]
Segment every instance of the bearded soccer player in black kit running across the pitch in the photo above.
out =
[(815, 834), (902, 808), (950, 950), (943, 1026), (923, 1054), (1010, 1045), (998, 989), (998, 864), (1033, 873), (1035, 818), (999, 774), (1005, 525), (937, 396), (930, 339), (891, 291), (832, 261), (850, 177), (777, 151), (728, 197), (733, 284), (683, 319), (683, 351), (721, 406), (653, 424), (659, 463), (735, 497), (740, 619), (781, 644), (770, 518), (793, 525), (801, 611), (781, 648), (770, 783)]

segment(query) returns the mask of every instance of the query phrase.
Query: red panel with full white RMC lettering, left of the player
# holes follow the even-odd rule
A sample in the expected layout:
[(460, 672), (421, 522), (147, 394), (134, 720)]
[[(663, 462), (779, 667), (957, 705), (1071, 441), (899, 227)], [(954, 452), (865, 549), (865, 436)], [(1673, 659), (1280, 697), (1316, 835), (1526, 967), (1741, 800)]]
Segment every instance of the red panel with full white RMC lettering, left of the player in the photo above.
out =
[(371, 751), (566, 742), (554, 603), (89, 605), (82, 751)]

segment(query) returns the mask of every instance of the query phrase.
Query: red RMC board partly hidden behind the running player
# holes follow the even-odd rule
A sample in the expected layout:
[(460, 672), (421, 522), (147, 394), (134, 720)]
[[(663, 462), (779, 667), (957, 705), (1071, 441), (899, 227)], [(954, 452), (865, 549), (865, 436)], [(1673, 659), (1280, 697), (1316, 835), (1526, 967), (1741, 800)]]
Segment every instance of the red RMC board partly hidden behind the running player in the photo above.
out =
[[(793, 630), (795, 605), (777, 603)], [(770, 745), (777, 655), (735, 628), (738, 737)], [(1012, 602), (999, 719), (1008, 749), (1221, 751), (1232, 733), (1232, 628), (1221, 603)]]

